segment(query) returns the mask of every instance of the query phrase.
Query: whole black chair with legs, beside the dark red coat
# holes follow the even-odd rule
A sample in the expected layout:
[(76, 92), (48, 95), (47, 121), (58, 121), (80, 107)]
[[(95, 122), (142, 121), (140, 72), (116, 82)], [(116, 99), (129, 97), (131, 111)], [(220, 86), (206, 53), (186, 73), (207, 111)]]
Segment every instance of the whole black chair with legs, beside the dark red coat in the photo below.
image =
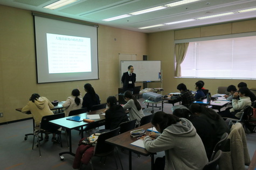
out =
[[(114, 153), (114, 159), (115, 159), (115, 164), (116, 164), (116, 168), (117, 169), (118, 169), (118, 166), (117, 166), (117, 162), (116, 162), (116, 158), (115, 158), (115, 152), (114, 152), (115, 146), (107, 144), (105, 141), (108, 138), (112, 138), (114, 136), (119, 135), (119, 132), (120, 132), (120, 127), (101, 134), (98, 137), (97, 143), (96, 143), (96, 145), (94, 147), (94, 154), (93, 154), (93, 156), (95, 156), (95, 157), (101, 157), (101, 158), (105, 157), (105, 160), (104, 160), (104, 164), (105, 164), (106, 157), (109, 156), (109, 154)], [(117, 151), (117, 157), (119, 158), (121, 167), (123, 169), (122, 162), (121, 162), (121, 159), (119, 157), (118, 151)], [(90, 162), (91, 162), (92, 169), (93, 169), (92, 159), (90, 160)]]

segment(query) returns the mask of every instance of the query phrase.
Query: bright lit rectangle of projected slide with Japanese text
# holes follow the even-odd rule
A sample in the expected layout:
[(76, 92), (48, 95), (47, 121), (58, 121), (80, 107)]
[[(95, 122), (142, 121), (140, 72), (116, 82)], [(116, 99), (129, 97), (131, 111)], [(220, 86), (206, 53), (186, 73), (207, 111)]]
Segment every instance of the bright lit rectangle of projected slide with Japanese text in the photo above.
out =
[(47, 33), (49, 73), (89, 72), (91, 39)]

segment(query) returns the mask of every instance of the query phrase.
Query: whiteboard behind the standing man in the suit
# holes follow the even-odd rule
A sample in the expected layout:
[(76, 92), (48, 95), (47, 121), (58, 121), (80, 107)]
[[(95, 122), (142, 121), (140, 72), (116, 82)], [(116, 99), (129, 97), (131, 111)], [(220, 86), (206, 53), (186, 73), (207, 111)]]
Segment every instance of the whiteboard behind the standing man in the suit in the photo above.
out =
[(161, 81), (161, 61), (121, 61), (121, 78), (129, 65), (133, 65), (136, 82)]

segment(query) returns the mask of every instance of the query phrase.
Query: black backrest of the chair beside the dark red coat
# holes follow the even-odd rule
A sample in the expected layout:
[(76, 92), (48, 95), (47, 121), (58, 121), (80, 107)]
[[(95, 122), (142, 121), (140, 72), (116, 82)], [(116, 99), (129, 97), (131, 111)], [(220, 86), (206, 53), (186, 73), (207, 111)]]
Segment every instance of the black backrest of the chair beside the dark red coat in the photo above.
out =
[(112, 152), (114, 150), (115, 146), (107, 144), (105, 141), (106, 141), (106, 139), (109, 139), (109, 138), (119, 135), (119, 131), (120, 131), (120, 127), (101, 134), (98, 137), (97, 143), (95, 145), (94, 155), (95, 156), (103, 156), (104, 154), (107, 155), (110, 152)]

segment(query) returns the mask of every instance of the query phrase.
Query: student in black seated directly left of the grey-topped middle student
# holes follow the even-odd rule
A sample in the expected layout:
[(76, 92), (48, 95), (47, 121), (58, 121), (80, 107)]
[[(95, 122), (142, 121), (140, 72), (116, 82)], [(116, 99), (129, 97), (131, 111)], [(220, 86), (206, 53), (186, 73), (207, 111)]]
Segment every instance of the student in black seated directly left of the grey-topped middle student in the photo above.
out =
[[(113, 130), (119, 127), (122, 122), (127, 122), (128, 117), (121, 105), (117, 105), (117, 99), (114, 96), (107, 98), (108, 108), (105, 110), (105, 129), (103, 131)], [(100, 130), (102, 132), (102, 130)]]

